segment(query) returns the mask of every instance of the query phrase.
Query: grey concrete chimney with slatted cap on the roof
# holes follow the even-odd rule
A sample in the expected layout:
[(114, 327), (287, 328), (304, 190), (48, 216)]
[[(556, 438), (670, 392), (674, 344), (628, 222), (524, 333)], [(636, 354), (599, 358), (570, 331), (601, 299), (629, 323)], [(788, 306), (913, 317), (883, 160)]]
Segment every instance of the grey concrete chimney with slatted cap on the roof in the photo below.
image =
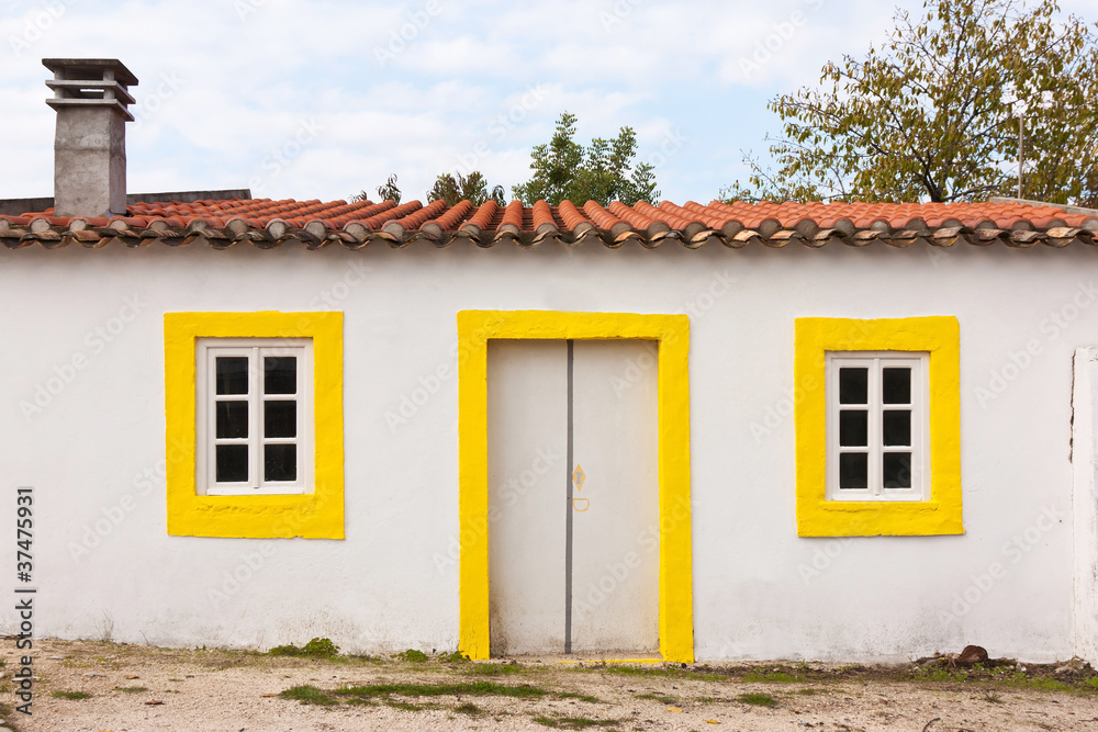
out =
[(44, 58), (54, 72), (47, 99), (57, 111), (54, 137), (54, 215), (126, 213), (128, 88), (137, 77), (116, 58)]

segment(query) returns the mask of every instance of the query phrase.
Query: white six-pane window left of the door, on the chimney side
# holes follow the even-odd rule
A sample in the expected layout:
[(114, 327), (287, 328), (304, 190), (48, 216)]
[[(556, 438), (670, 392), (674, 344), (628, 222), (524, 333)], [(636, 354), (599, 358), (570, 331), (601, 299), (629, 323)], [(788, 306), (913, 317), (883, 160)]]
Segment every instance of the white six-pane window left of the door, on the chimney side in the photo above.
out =
[(200, 494), (312, 492), (313, 346), (309, 338), (200, 338)]

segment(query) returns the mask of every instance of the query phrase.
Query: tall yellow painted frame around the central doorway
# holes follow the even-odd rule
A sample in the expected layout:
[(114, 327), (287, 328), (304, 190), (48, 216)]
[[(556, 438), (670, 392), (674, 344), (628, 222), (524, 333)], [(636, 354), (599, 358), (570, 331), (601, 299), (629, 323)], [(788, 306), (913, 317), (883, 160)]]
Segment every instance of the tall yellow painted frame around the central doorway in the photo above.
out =
[(493, 339), (658, 341), (660, 653), (664, 661), (693, 663), (690, 319), (685, 315), (458, 313), (461, 652), (474, 660), (489, 657), (488, 342)]

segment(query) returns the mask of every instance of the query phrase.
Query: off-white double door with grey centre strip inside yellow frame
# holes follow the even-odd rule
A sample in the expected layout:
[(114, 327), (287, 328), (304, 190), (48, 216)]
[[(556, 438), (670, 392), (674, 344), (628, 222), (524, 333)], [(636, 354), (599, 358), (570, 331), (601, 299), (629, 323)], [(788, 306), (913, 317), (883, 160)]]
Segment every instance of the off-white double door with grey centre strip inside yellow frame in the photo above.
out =
[(657, 346), (569, 350), (489, 345), (491, 651), (656, 653)]

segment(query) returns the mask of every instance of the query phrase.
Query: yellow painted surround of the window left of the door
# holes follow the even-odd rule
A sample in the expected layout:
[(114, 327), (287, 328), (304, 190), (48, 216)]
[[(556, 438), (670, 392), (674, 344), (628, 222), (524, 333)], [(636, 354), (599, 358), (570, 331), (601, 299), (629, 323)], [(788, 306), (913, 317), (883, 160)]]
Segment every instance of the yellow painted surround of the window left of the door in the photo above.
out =
[[(205, 496), (195, 491), (199, 338), (311, 338), (313, 491)], [(344, 538), (343, 313), (165, 313), (168, 533), (180, 537)]]

